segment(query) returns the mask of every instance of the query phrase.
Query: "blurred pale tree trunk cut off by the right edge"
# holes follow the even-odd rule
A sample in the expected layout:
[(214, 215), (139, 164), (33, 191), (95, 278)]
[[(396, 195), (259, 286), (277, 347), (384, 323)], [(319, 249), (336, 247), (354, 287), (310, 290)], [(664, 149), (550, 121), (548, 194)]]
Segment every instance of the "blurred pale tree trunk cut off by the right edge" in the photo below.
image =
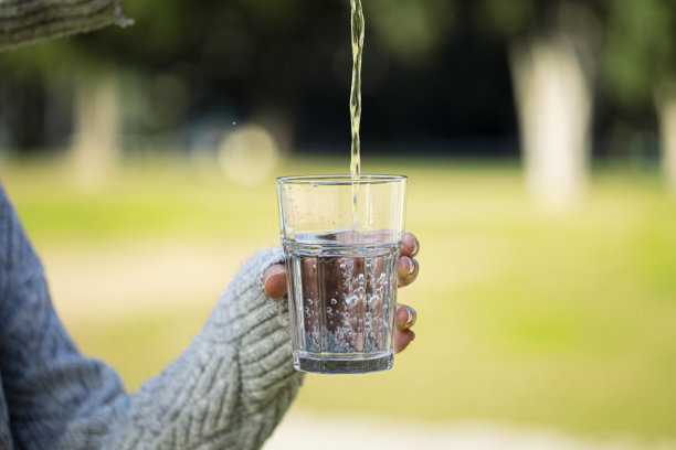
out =
[(676, 195), (676, 79), (664, 82), (655, 94), (659, 118), (662, 171), (670, 194)]

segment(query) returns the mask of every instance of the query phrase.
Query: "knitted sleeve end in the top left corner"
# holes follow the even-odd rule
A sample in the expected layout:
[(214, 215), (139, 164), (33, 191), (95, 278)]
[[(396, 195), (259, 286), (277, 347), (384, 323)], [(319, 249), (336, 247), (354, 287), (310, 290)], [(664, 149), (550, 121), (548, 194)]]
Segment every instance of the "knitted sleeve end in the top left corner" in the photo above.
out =
[(0, 51), (68, 34), (93, 31), (124, 17), (120, 0), (0, 0)]

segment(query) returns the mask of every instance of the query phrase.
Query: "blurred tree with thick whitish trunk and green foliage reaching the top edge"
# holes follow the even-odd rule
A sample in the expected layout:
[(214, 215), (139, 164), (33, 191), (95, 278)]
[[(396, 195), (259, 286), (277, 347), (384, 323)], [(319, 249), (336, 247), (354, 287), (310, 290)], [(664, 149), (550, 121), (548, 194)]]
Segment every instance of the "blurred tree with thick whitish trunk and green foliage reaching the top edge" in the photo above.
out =
[(484, 0), (479, 23), (507, 39), (526, 179), (543, 206), (580, 195), (591, 153), (600, 23), (590, 1)]

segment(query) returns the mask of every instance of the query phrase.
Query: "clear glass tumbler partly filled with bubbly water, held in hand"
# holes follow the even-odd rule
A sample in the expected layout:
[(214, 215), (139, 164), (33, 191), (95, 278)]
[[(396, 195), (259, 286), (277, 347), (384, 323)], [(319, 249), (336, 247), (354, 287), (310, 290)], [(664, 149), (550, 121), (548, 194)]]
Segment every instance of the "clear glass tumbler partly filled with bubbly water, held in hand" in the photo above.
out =
[(400, 175), (277, 179), (296, 369), (392, 367), (405, 185)]

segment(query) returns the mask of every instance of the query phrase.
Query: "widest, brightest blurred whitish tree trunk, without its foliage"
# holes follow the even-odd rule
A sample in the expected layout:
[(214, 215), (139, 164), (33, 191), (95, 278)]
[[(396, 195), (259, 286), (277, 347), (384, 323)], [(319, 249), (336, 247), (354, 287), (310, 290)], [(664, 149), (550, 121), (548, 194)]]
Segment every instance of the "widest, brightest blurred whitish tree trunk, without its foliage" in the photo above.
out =
[(511, 73), (528, 190), (539, 206), (564, 211), (587, 184), (591, 92), (566, 35), (513, 45)]

